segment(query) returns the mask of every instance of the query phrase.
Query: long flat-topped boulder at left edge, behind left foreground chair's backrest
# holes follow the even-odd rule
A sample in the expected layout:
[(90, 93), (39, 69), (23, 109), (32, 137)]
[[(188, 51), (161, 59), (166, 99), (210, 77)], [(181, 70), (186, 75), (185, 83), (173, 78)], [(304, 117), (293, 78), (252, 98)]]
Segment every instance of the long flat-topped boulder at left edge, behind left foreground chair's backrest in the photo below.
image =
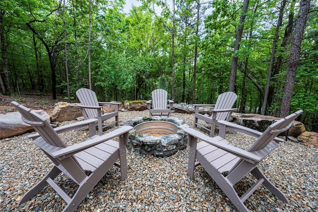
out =
[[(44, 112), (42, 109), (32, 111), (43, 116), (50, 123), (50, 115)], [(21, 114), (19, 112), (0, 114), (0, 139), (9, 138), (32, 131), (34, 131), (32, 126), (22, 121)]]

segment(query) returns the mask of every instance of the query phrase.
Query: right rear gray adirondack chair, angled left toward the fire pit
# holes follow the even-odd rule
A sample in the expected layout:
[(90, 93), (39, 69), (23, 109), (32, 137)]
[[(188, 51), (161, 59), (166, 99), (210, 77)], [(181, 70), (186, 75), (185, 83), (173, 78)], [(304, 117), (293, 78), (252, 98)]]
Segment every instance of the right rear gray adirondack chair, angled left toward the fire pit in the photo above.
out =
[[(238, 108), (232, 108), (237, 101), (238, 96), (233, 92), (226, 92), (220, 94), (215, 105), (206, 104), (195, 104), (194, 106), (194, 128), (200, 126), (208, 131), (210, 131), (210, 137), (214, 136), (215, 126), (218, 126), (219, 120), (228, 121), (231, 117), (232, 112), (236, 111)], [(199, 113), (199, 107), (211, 106), (212, 114), (210, 116), (203, 115)], [(202, 119), (207, 123), (211, 124), (211, 129), (198, 123), (198, 119)]]

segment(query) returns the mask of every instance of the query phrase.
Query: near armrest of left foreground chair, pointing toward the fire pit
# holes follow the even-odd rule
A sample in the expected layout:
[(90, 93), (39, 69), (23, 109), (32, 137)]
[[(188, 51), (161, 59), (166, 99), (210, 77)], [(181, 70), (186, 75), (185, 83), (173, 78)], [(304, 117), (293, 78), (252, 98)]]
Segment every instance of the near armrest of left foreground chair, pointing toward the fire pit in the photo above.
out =
[[(105, 134), (103, 136), (99, 136), (99, 137), (93, 138), (91, 140), (86, 140), (84, 142), (74, 144), (72, 146), (69, 146), (69, 147), (63, 148), (61, 150), (58, 150), (56, 152), (53, 152), (51, 154), (51, 156), (54, 158), (58, 158), (59, 160), (63, 160), (67, 157), (70, 157), (78, 152), (81, 152), (81, 151), (88, 149), (92, 146), (100, 144), (104, 141), (107, 141), (107, 140), (110, 140), (114, 137), (118, 137), (120, 135), (128, 133), (132, 129), (133, 129), (133, 127), (131, 127), (131, 126), (123, 126), (119, 129), (115, 129), (114, 131), (111, 131), (110, 133)], [(127, 137), (128, 137), (128, 135), (127, 135)]]

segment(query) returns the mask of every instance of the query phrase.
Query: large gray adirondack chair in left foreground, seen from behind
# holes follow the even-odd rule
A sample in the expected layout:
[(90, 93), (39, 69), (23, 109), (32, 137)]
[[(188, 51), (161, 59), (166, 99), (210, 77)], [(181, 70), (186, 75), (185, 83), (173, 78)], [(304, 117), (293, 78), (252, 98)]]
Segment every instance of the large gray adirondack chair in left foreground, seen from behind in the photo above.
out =
[[(94, 135), (82, 143), (66, 146), (58, 132), (42, 116), (16, 102), (11, 104), (21, 113), (22, 120), (38, 132), (39, 136), (33, 137), (34, 143), (54, 163), (51, 171), (24, 194), (19, 204), (30, 200), (49, 184), (67, 203), (63, 212), (71, 212), (113, 165), (121, 168), (122, 180), (127, 178), (126, 144), (132, 127), (124, 126), (103, 136)], [(95, 128), (95, 121), (96, 119), (79, 121), (64, 127), (60, 132), (66, 131), (67, 128), (77, 129), (80, 124), (91, 124)], [(119, 141), (111, 140), (114, 137), (119, 137)], [(120, 163), (117, 163), (118, 159)], [(90, 173), (86, 173), (87, 171)], [(79, 185), (72, 198), (54, 182), (60, 173), (64, 173)]]

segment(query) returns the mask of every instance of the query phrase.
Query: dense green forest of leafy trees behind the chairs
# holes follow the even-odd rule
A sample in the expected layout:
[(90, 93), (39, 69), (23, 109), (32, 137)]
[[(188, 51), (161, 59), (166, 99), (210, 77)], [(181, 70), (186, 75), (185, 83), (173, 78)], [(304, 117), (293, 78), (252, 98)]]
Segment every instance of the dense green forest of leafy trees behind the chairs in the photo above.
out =
[[(215, 103), (243, 113), (298, 109), (318, 131), (318, 3), (310, 0), (1, 0), (0, 92), (76, 101)], [(160, 13), (158, 12), (158, 8)]]

